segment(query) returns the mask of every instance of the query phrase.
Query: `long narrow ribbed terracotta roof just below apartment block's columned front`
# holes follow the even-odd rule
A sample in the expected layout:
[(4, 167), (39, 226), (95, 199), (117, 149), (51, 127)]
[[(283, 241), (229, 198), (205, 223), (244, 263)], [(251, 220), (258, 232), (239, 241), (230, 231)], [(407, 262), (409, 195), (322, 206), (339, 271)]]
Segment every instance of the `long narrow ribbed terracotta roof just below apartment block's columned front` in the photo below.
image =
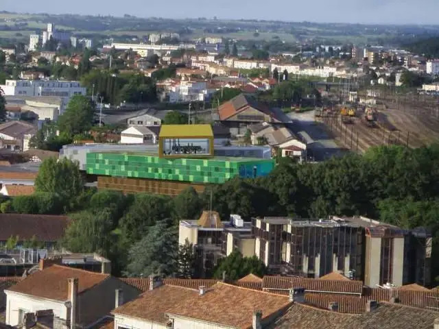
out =
[(309, 278), (296, 278), (287, 276), (264, 276), (263, 289), (292, 289), (305, 288), (309, 292), (353, 293), (361, 295), (363, 282), (357, 280), (321, 280)]

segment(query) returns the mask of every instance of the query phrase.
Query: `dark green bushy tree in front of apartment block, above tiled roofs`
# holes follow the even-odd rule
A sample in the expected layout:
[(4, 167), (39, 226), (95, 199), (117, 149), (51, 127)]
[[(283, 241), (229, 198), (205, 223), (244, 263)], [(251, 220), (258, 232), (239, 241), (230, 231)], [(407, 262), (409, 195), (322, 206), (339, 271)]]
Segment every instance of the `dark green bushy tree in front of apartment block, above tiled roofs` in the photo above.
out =
[(235, 249), (230, 255), (221, 260), (215, 269), (214, 277), (222, 278), (224, 272), (227, 280), (238, 280), (250, 273), (262, 277), (266, 273), (266, 268), (257, 256), (244, 257), (239, 250)]

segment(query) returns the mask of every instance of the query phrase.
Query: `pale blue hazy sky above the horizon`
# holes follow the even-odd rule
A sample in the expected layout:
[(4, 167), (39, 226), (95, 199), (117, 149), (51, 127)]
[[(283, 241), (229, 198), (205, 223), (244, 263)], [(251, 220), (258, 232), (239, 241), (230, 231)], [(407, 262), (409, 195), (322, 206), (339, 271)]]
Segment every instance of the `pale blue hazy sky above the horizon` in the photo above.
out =
[(439, 0), (0, 0), (0, 10), (184, 19), (439, 24)]

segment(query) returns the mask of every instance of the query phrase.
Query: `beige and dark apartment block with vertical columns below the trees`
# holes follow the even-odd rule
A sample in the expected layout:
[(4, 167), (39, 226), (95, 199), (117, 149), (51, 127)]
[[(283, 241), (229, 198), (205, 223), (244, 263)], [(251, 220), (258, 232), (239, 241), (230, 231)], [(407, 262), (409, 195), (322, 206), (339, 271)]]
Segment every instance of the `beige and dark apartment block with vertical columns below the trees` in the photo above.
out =
[[(230, 225), (233, 234), (228, 241), (228, 224), (219, 219), (215, 223), (180, 223), (180, 243), (188, 239), (203, 251), (204, 268), (206, 259), (215, 264), (239, 249), (245, 256), (256, 255), (275, 274), (320, 278), (336, 272), (369, 287), (431, 284), (431, 234), (423, 228), (401, 230), (365, 217), (264, 217), (244, 223), (245, 234), (237, 234), (238, 226)], [(215, 256), (208, 249), (215, 250)]]

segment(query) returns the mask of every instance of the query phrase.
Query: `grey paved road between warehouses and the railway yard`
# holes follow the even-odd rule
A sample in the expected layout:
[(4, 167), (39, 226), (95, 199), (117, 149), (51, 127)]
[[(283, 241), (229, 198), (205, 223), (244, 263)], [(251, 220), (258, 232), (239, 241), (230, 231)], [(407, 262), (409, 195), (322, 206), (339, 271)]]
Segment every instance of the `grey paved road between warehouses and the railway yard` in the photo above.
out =
[(294, 121), (291, 125), (292, 130), (307, 141), (310, 160), (322, 161), (346, 153), (346, 150), (340, 148), (320, 124), (314, 121), (314, 111), (291, 112), (288, 117)]

